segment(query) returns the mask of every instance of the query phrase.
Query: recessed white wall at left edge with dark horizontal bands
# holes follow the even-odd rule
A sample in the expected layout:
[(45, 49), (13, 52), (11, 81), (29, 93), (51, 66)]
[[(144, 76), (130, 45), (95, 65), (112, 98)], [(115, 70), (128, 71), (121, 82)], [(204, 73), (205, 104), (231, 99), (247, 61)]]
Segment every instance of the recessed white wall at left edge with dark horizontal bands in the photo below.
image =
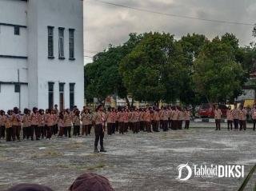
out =
[[(26, 26), (27, 3), (18, 0), (0, 1), (0, 23)], [(0, 25), (0, 55), (27, 56), (27, 29), (20, 28), (20, 34), (14, 35), (14, 26)], [(27, 81), (27, 60), (20, 58), (0, 58), (0, 109), (12, 109), (19, 105), (19, 94), (14, 92), (14, 82)], [(2, 83), (3, 82), (3, 83)], [(21, 109), (28, 105), (28, 87), (21, 86)]]

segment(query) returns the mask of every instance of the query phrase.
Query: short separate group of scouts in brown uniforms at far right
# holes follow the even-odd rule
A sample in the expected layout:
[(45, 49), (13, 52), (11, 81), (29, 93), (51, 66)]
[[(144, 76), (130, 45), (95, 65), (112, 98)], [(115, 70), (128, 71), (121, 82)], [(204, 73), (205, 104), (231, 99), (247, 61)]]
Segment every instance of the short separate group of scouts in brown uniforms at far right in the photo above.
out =
[[(239, 108), (237, 105), (234, 105), (234, 109), (231, 109), (231, 106), (228, 107), (226, 110), (226, 119), (227, 119), (227, 129), (232, 130), (233, 124), (234, 124), (234, 130), (246, 130), (246, 118), (247, 115), (250, 115), (254, 122), (253, 130), (255, 130), (256, 125), (256, 105), (254, 105), (254, 108), (251, 109), (250, 113), (247, 112), (247, 110), (243, 107), (243, 105), (240, 105)], [(216, 123), (216, 129), (221, 129), (221, 119), (222, 119), (222, 111), (218, 108), (218, 105), (215, 106), (214, 109), (214, 119)]]

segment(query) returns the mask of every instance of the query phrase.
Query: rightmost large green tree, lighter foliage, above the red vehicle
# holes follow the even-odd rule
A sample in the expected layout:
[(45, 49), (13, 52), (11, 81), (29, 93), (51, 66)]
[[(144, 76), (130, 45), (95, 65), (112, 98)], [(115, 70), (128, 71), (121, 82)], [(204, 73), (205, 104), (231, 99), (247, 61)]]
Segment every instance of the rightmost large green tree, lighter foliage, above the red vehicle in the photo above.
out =
[(234, 47), (218, 37), (207, 42), (194, 63), (196, 91), (209, 102), (234, 100), (242, 94), (244, 70)]

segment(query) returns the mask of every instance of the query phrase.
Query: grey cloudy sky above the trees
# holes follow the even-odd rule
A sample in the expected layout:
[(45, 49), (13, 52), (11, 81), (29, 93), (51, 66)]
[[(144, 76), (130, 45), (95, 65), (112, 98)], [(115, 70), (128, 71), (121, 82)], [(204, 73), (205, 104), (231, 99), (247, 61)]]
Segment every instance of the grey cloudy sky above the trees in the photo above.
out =
[[(122, 6), (177, 14), (193, 18), (229, 22), (256, 23), (255, 0), (101, 0)], [(128, 34), (149, 31), (168, 32), (176, 38), (188, 33), (205, 34), (213, 38), (226, 32), (235, 34), (240, 45), (248, 45), (253, 26), (206, 22), (188, 18), (170, 17), (122, 6), (112, 6), (98, 0), (84, 0), (85, 55), (94, 56), (109, 44), (126, 42)], [(91, 58), (86, 58), (91, 62)]]

